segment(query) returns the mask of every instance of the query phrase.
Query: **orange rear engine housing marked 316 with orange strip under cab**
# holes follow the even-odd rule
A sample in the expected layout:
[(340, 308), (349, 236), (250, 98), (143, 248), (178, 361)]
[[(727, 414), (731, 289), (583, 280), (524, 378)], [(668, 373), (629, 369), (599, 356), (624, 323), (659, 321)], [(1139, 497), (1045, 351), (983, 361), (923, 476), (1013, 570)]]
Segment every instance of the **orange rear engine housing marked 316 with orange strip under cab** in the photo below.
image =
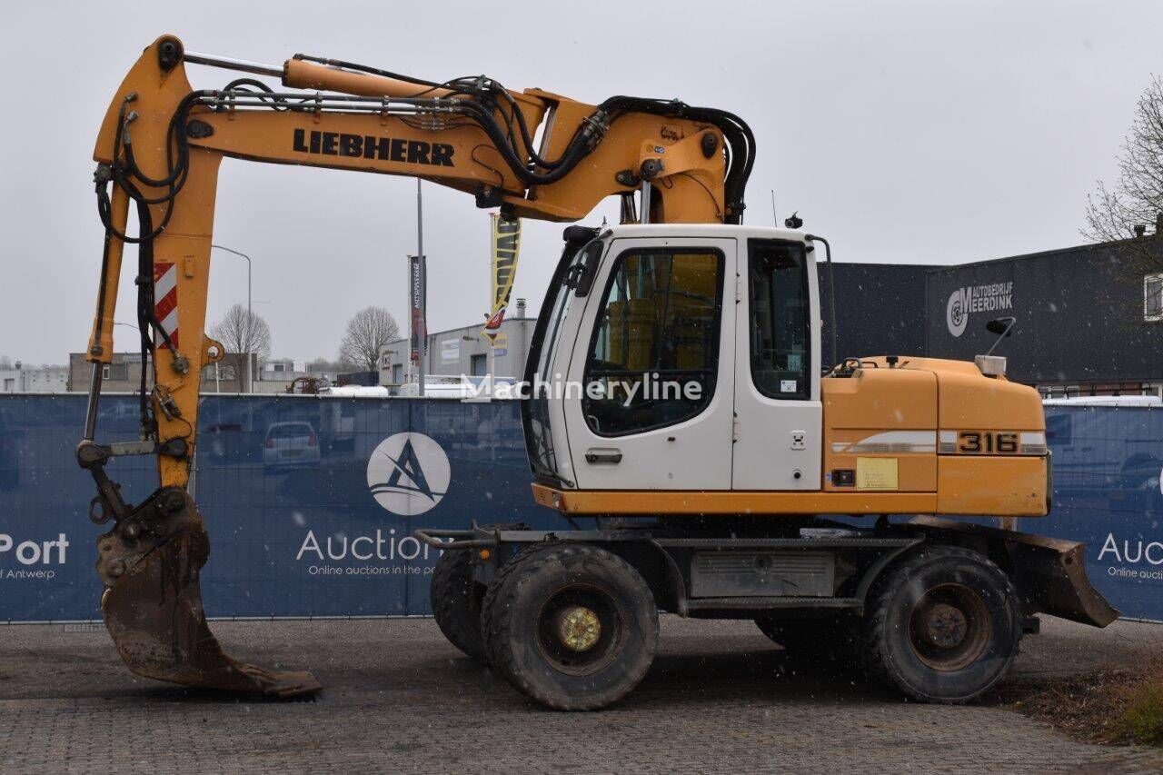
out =
[[(1048, 512), (1049, 458), (1032, 388), (973, 363), (865, 358), (821, 379), (819, 491), (577, 491), (534, 485), (571, 514), (983, 514)], [(778, 410), (775, 410), (778, 411)]]

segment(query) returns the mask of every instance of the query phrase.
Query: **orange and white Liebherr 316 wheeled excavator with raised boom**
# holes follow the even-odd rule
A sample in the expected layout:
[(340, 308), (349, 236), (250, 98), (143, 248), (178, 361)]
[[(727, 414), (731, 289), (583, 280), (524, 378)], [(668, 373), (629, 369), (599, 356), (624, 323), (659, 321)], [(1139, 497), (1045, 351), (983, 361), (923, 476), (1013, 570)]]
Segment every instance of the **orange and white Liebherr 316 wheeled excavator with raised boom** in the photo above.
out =
[[(237, 77), (195, 90), (187, 64)], [(442, 549), (441, 630), (542, 704), (623, 697), (651, 663), (659, 611), (752, 619), (785, 648), (849, 652), (934, 702), (997, 683), (1040, 612), (1118, 616), (1082, 545), (961, 519), (1050, 507), (1041, 403), (1003, 358), (825, 353), (816, 262), (830, 247), (794, 222), (743, 225), (743, 120), (308, 55), (261, 64), (165, 35), (97, 140), (105, 247), (77, 447), (97, 484), (90, 517), (113, 522), (97, 542), (101, 612), (133, 671), (276, 697), (320, 689), (309, 673), (229, 657), (201, 604), (209, 539), (190, 483), (199, 375), (224, 356), (205, 333), (224, 157), (418, 177), (508, 219), (576, 221), (620, 197), (618, 226), (565, 228), (527, 362), (533, 497), (563, 528), (416, 532)], [(140, 438), (99, 443), (126, 244), (151, 368)], [(569, 384), (584, 389), (558, 390)], [(105, 470), (126, 455), (158, 463), (157, 490), (135, 504)]]

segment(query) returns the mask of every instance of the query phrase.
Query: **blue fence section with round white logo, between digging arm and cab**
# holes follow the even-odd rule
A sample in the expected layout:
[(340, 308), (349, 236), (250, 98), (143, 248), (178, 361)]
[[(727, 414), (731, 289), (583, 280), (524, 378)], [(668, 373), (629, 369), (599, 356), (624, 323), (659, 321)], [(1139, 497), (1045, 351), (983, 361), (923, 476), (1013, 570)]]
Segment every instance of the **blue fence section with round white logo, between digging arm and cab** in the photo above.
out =
[[(515, 403), (209, 397), (201, 425), (202, 595), (216, 614), (428, 613), (435, 552), (415, 528), (562, 524), (533, 503)], [(379, 449), (398, 434), (408, 456), (402, 442)], [(393, 475), (380, 503), (371, 484)]]

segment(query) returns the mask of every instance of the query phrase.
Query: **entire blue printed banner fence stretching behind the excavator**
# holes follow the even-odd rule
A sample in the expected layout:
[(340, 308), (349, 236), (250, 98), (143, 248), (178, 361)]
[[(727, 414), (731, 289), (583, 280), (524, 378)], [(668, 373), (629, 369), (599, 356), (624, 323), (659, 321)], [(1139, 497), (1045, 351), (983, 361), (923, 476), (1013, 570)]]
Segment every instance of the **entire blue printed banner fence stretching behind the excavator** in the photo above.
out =
[[(99, 616), (84, 413), (84, 396), (0, 396), (0, 621)], [(435, 553), (416, 527), (564, 526), (533, 503), (515, 403), (212, 396), (199, 426), (212, 616), (427, 613)], [(136, 399), (106, 397), (98, 427), (134, 439)], [(1163, 411), (1050, 406), (1047, 431), (1054, 510), (1021, 527), (1085, 541), (1094, 585), (1163, 619)], [(109, 472), (130, 502), (156, 486), (150, 457)]]

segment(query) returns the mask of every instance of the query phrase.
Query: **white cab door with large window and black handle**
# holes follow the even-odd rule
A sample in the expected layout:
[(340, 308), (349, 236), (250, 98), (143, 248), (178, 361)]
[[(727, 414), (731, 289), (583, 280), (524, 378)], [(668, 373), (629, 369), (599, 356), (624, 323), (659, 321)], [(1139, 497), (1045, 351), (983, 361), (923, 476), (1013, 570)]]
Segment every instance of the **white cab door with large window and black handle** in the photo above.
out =
[(563, 397), (579, 489), (730, 489), (735, 244), (612, 242)]

